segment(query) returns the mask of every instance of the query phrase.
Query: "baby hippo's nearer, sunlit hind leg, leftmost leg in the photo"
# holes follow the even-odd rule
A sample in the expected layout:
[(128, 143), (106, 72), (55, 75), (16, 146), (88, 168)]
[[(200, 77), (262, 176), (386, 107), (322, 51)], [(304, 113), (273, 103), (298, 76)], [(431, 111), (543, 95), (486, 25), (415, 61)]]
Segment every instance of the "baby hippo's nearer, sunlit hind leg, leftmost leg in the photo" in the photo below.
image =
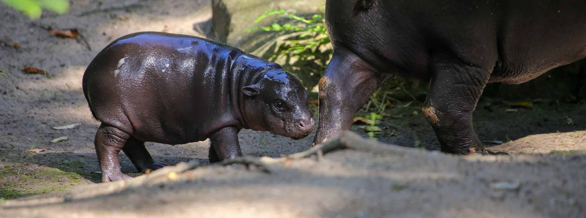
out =
[(127, 133), (103, 123), (98, 128), (94, 145), (96, 145), (96, 154), (102, 171), (102, 182), (132, 179), (132, 176), (125, 175), (120, 171), (120, 162), (118, 161), (118, 153), (129, 138), (130, 135)]

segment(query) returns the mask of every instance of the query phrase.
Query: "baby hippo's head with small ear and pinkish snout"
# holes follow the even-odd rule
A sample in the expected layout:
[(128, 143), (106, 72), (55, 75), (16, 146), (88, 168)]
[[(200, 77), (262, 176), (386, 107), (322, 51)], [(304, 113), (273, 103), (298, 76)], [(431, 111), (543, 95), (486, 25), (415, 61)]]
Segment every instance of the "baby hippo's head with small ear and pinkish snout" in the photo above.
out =
[(301, 81), (283, 69), (267, 71), (257, 83), (242, 88), (243, 117), (248, 128), (270, 131), (292, 139), (314, 130), (307, 91)]

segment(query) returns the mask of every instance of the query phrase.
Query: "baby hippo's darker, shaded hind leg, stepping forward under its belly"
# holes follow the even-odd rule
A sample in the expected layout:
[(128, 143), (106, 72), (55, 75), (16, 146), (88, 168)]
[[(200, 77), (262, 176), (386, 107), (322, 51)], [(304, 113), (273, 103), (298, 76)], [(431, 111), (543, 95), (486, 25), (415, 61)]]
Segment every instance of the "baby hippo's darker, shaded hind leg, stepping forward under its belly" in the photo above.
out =
[(138, 141), (138, 139), (134, 137), (128, 138), (122, 151), (128, 156), (128, 159), (130, 159), (132, 164), (137, 167), (139, 172), (145, 172), (147, 170), (154, 171), (155, 169), (166, 166), (154, 161), (147, 148), (145, 148), (145, 142)]

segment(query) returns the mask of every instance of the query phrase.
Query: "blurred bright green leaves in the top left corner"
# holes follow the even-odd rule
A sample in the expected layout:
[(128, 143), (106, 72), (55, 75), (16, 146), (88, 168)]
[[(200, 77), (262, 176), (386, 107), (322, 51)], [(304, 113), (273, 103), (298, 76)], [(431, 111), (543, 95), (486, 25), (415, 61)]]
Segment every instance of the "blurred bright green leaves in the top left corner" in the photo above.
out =
[(69, 11), (67, 0), (2, 0), (2, 2), (29, 16), (30, 19), (39, 19), (43, 8), (59, 14)]

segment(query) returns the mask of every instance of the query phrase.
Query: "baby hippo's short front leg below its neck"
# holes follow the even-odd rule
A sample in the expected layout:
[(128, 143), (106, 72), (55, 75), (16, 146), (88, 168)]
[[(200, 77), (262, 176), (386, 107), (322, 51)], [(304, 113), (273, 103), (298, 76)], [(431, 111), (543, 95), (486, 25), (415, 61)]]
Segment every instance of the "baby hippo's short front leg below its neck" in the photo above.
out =
[(236, 127), (224, 127), (210, 137), (210, 163), (242, 156)]

